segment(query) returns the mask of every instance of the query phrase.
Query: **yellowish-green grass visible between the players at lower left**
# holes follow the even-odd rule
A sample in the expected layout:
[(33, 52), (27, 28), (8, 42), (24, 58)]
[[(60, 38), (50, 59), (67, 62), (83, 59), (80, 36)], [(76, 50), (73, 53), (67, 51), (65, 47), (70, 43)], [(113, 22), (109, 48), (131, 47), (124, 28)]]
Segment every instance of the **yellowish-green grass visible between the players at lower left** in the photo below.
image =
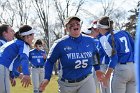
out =
[[(57, 84), (57, 76), (52, 76), (49, 85), (46, 87), (46, 90), (43, 93), (58, 93), (58, 84)], [(33, 86), (30, 85), (28, 88), (22, 87), (20, 80), (16, 80), (17, 84), (15, 87), (11, 87), (11, 93), (33, 93)]]

